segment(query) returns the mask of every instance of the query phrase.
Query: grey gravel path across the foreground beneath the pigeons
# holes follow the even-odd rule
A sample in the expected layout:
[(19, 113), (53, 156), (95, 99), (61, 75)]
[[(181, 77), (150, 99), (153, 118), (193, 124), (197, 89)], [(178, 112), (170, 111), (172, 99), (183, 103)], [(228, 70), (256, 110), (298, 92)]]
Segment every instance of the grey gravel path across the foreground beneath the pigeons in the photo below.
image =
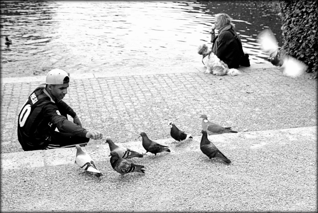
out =
[(316, 128), (209, 136), (232, 160), (230, 165), (201, 153), (201, 137), (182, 143), (159, 140), (171, 147), (171, 153), (131, 159), (145, 165), (146, 174), (126, 174), (121, 180), (116, 179), (119, 174), (111, 168), (107, 153), (84, 147), (98, 159), (96, 165), (104, 174), (101, 181), (92, 174), (78, 174), (73, 160), (59, 166), (2, 170), (1, 209), (316, 212), (316, 138)]

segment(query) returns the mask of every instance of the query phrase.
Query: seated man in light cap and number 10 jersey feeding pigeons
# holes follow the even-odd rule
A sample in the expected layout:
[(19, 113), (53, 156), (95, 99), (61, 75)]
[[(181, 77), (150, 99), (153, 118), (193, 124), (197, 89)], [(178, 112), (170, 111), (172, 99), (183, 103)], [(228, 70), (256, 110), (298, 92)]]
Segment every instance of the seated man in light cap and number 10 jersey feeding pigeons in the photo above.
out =
[[(46, 86), (35, 89), (22, 106), (17, 133), (24, 151), (86, 146), (89, 138), (102, 138), (100, 131), (82, 128), (79, 117), (62, 101), (68, 83), (64, 70), (52, 69), (46, 75)], [(74, 123), (67, 120), (67, 114)]]

